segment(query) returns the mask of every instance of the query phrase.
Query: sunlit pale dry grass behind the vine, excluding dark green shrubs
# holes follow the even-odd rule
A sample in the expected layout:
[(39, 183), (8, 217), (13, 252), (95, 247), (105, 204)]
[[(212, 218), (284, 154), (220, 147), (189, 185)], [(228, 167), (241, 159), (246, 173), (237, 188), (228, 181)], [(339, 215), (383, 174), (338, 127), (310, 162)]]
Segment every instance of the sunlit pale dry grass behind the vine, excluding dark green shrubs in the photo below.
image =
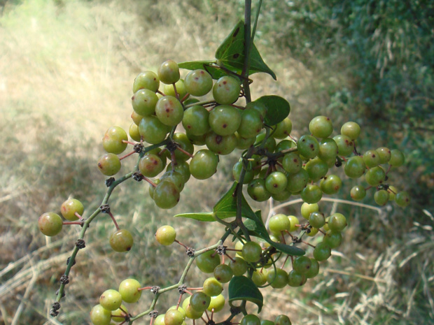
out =
[[(58, 210), (68, 196), (80, 198), (87, 213), (97, 208), (104, 194), (104, 178), (94, 167), (102, 153), (100, 138), (111, 125), (129, 126), (134, 76), (155, 70), (167, 58), (213, 57), (238, 15), (223, 0), (204, 1), (203, 8), (188, 1), (173, 1), (171, 6), (148, 1), (148, 10), (139, 1), (61, 2), (55, 6), (23, 1), (6, 6), (0, 17), (0, 319), (7, 325), (88, 324), (90, 306), (99, 294), (125, 277), (161, 285), (179, 277), (183, 252), (155, 245), (155, 229), (170, 222), (186, 243), (207, 245), (219, 235), (214, 225), (206, 225), (207, 236), (197, 236), (202, 224), (170, 217), (211, 210), (230, 184), (223, 173), (214, 182), (192, 180), (182, 194), (182, 205), (169, 212), (155, 209), (143, 184), (121, 186), (112, 210), (120, 225), (133, 231), (133, 251), (113, 254), (106, 240), (113, 230), (111, 222), (101, 219), (92, 224), (62, 312), (57, 319), (48, 317), (78, 230), (44, 238), (37, 231), (38, 215)], [(201, 10), (208, 10), (213, 24), (204, 20)], [(279, 81), (255, 75), (255, 97), (286, 97), (294, 125), (307, 125), (302, 122), (323, 103), (332, 115), (335, 108), (328, 105), (332, 100), (323, 89), (328, 82), (342, 82), (344, 76), (316, 82), (326, 70), (309, 71), (285, 53), (268, 52), (266, 61)], [(203, 193), (216, 196), (202, 197)], [(258, 208), (269, 211), (265, 205)], [(296, 213), (298, 208), (286, 209)], [(325, 203), (325, 210), (332, 208)], [(318, 280), (300, 289), (267, 291), (272, 307), (264, 317), (286, 312), (293, 324), (423, 324), (434, 319), (434, 222), (429, 212), (426, 224), (413, 224), (408, 216), (407, 222), (399, 220), (400, 212), (382, 209), (377, 217), (360, 207), (337, 208), (351, 218), (342, 249), (323, 265)], [(393, 225), (412, 229), (407, 233), (405, 227)], [(200, 285), (196, 273), (191, 280)], [(169, 307), (176, 298), (169, 294), (162, 305)], [(144, 295), (130, 312), (146, 310), (150, 301), (151, 296)]]

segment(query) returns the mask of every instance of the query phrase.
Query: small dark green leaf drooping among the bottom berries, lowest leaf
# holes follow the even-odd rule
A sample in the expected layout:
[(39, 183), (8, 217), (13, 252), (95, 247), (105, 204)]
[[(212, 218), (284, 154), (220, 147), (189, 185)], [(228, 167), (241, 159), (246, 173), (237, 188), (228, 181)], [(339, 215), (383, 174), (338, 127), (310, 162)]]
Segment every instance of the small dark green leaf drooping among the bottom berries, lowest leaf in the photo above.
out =
[(251, 279), (244, 276), (232, 277), (229, 282), (229, 304), (231, 307), (234, 301), (250, 301), (258, 305), (258, 313), (264, 305), (264, 297), (260, 293), (256, 284)]

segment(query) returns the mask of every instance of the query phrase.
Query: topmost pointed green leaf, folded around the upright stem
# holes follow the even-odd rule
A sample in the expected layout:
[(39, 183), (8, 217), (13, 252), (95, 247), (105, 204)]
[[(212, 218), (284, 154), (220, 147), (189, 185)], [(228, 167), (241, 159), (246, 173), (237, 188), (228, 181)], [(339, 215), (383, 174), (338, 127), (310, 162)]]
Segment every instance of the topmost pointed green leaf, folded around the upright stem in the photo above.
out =
[[(238, 72), (242, 71), (244, 67), (244, 47), (244, 22), (240, 20), (218, 47), (216, 59), (220, 60), (225, 68), (235, 68)], [(276, 75), (262, 60), (258, 49), (253, 43), (250, 53), (248, 75), (257, 72), (268, 73), (276, 80)]]

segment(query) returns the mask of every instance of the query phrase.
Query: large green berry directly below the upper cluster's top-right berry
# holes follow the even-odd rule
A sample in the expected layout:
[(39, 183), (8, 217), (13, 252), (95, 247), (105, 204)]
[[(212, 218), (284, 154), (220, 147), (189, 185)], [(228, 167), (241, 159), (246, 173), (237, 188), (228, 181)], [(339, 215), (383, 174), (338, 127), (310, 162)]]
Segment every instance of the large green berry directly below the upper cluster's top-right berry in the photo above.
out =
[(209, 126), (219, 136), (230, 136), (241, 124), (241, 112), (229, 105), (215, 107), (209, 112)]

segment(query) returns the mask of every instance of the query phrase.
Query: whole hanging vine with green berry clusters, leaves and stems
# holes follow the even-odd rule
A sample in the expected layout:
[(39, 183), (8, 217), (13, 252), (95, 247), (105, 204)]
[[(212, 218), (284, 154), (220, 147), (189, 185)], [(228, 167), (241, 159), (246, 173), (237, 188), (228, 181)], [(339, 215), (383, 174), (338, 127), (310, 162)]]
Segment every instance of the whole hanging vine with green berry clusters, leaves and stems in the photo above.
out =
[[(330, 257), (332, 249), (339, 247), (346, 217), (340, 213), (325, 216), (318, 206), (323, 194), (337, 194), (342, 187), (341, 176), (346, 175), (364, 178), (367, 183), (351, 189), (355, 200), (365, 198), (368, 189), (376, 189), (374, 201), (379, 205), (388, 201), (400, 206), (409, 204), (407, 192), (398, 192), (388, 184), (391, 168), (404, 163), (399, 150), (379, 147), (361, 154), (356, 146), (359, 125), (347, 122), (338, 135), (332, 136), (332, 121), (325, 116), (314, 117), (309, 133), (295, 138), (288, 117), (290, 106), (285, 99), (262, 96), (251, 101), (249, 75), (266, 72), (274, 77), (274, 73), (262, 62), (247, 26), (244, 22), (237, 24), (216, 52), (215, 62), (177, 64), (168, 60), (156, 73), (145, 71), (137, 75), (132, 87), (132, 124), (128, 133), (121, 127), (111, 127), (102, 139), (106, 154), (97, 166), (109, 178), (99, 208), (83, 217), (83, 205), (71, 198), (60, 208), (67, 221), (55, 212), (39, 217), (39, 228), (46, 236), (57, 235), (66, 224), (81, 226), (60, 280), (52, 316), (59, 312), (59, 301), (69, 283), (78, 250), (85, 247), (87, 227), (100, 213), (113, 220), (115, 231), (109, 238), (113, 250), (128, 252), (134, 245), (132, 234), (120, 229), (109, 205), (113, 189), (130, 178), (148, 182), (148, 194), (159, 208), (174, 208), (190, 176), (197, 180), (211, 178), (221, 156), (239, 150), (240, 159), (232, 167), (235, 182), (213, 211), (178, 215), (223, 224), (225, 233), (220, 240), (197, 250), (179, 242), (172, 226), (160, 227), (155, 233), (158, 243), (177, 243), (186, 249), (188, 262), (181, 278), (165, 288), (157, 284), (146, 286), (132, 278), (123, 280), (118, 288), (104, 291), (99, 304), (92, 308), (90, 319), (94, 325), (109, 325), (112, 321), (132, 324), (144, 315), (151, 316), (151, 325), (183, 325), (186, 319), (193, 319), (193, 324), (202, 319), (213, 325), (290, 325), (285, 315), (279, 315), (274, 322), (261, 321), (257, 315), (248, 314), (246, 303), (257, 305), (259, 314), (264, 303), (262, 287), (303, 285), (318, 274), (320, 262)], [(243, 51), (247, 49), (241, 54), (240, 40), (244, 41)], [(252, 62), (248, 60), (249, 51), (255, 59)], [(180, 67), (189, 71), (185, 78), (181, 78)], [(129, 145), (132, 150), (125, 154)], [(114, 178), (123, 159), (134, 156), (138, 157), (133, 170)], [(343, 172), (339, 172), (341, 166)], [(336, 168), (336, 172), (330, 173), (331, 168)], [(252, 210), (244, 192), (260, 202), (300, 196), (304, 201), (302, 218), (276, 214), (266, 227), (260, 211)], [(227, 243), (229, 236), (234, 238), (234, 244)], [(188, 286), (188, 270), (194, 261), (205, 274), (200, 288)], [(223, 295), (225, 286), (227, 296)], [(159, 315), (158, 297), (176, 289), (176, 304)], [(137, 303), (143, 291), (154, 295), (150, 308), (130, 315), (125, 304)], [(183, 299), (184, 295), (187, 298)], [(230, 305), (230, 316), (217, 323), (214, 314), (226, 303)], [(237, 316), (240, 313), (242, 317)]]

